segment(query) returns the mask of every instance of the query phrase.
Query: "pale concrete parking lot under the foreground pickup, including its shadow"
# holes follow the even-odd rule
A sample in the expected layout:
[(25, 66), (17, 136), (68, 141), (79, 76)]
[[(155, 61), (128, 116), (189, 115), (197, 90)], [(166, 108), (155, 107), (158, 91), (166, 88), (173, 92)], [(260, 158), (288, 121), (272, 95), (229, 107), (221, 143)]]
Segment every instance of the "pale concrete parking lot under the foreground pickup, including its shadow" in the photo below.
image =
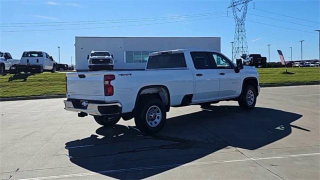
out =
[(320, 85), (261, 88), (250, 111), (171, 108), (153, 136), (133, 120), (101, 127), (62, 100), (0, 102), (1, 179), (320, 178)]

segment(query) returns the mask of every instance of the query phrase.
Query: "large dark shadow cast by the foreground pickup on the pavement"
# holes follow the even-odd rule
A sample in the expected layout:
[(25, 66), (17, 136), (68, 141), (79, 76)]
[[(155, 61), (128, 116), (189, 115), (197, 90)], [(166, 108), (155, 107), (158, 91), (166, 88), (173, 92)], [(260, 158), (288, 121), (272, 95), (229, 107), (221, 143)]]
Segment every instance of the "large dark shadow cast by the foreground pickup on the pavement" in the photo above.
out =
[[(99, 127), (96, 134), (67, 142), (70, 161), (118, 179), (146, 178), (232, 147), (253, 150), (291, 133), (290, 123), (302, 115), (255, 107), (208, 106), (168, 118), (155, 135), (132, 127)], [(298, 126), (293, 126), (306, 130)]]

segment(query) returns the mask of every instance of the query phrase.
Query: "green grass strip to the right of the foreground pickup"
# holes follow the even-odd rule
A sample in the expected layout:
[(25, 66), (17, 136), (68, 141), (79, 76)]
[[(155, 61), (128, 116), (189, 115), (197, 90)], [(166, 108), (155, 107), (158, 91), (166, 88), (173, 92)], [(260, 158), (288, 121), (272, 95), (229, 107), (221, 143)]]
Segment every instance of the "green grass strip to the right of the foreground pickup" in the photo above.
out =
[(319, 82), (319, 67), (295, 67), (287, 68), (294, 74), (282, 74), (285, 68), (258, 68), (260, 84), (295, 83), (295, 82)]

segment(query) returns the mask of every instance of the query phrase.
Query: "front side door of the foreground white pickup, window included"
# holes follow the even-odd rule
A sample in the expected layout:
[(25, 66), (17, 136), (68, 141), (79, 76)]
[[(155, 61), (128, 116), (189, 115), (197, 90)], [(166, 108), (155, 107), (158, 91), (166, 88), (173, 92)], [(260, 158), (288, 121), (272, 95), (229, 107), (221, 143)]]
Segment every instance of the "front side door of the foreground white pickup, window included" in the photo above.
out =
[(234, 64), (220, 53), (211, 52), (219, 75), (219, 97), (236, 96), (241, 88), (240, 73), (235, 73)]

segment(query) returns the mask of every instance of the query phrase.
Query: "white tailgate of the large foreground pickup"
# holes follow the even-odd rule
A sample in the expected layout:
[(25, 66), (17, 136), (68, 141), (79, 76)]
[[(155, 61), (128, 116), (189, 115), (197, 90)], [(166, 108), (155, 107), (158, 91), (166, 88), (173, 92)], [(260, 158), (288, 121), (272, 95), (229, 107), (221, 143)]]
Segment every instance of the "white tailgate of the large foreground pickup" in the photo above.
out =
[(103, 72), (71, 72), (66, 79), (68, 98), (104, 100)]

